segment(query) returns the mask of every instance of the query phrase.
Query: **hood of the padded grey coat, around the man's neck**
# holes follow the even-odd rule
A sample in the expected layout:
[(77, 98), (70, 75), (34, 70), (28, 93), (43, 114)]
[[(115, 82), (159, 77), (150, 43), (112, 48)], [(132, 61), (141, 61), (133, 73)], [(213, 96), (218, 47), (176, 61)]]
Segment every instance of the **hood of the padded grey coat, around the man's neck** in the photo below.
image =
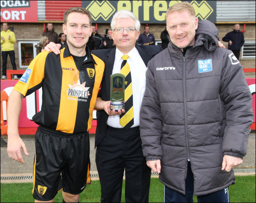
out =
[[(169, 35), (167, 37), (170, 41)], [(192, 48), (204, 45), (207, 51), (212, 52), (218, 47), (218, 29), (208, 20), (200, 20), (198, 22), (195, 38), (195, 44)], [(175, 53), (179, 50), (171, 41), (168, 44), (168, 48), (171, 53)]]

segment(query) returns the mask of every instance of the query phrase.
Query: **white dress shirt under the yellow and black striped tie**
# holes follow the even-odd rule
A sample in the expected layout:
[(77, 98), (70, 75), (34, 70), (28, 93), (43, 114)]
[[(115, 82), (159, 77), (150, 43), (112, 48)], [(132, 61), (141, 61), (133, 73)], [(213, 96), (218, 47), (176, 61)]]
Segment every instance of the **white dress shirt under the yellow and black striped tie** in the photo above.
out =
[[(120, 73), (121, 63), (123, 62), (123, 55), (124, 54), (120, 52), (117, 48), (112, 74)], [(127, 63), (130, 66), (132, 75), (132, 99), (134, 113), (134, 124), (132, 125), (132, 127), (136, 127), (139, 126), (139, 111), (145, 92), (147, 67), (135, 47), (130, 52), (128, 52), (128, 54), (125, 55), (129, 56), (129, 58), (127, 59)], [(120, 125), (120, 116), (109, 116), (107, 120), (107, 125), (114, 128), (122, 128), (122, 126)]]

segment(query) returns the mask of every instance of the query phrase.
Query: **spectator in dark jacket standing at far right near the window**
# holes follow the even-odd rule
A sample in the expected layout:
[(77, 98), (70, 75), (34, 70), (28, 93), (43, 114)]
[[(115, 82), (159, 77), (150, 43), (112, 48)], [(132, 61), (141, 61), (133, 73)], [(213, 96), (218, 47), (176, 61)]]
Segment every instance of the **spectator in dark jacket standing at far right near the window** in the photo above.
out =
[(241, 47), (245, 43), (244, 34), (240, 31), (240, 25), (235, 24), (233, 31), (227, 33), (225, 37), (222, 38), (222, 41), (228, 42), (228, 49), (233, 52), (233, 54), (239, 60)]

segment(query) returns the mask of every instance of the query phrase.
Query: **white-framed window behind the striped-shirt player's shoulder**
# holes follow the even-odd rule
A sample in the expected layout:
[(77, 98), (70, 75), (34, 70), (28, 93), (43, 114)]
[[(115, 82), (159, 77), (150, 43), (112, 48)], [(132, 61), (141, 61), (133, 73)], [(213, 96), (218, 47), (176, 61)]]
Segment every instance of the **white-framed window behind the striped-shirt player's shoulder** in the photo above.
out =
[(39, 41), (18, 41), (20, 68), (27, 68), (34, 57), (36, 57), (35, 45), (38, 43)]

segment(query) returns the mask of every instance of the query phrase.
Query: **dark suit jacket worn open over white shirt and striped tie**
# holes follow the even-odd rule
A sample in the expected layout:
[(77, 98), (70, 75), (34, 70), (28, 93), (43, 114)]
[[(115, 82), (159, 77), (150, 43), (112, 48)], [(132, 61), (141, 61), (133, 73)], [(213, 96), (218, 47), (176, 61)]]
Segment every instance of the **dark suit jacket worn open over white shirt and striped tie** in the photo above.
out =
[[(136, 48), (146, 66), (149, 60), (154, 57), (154, 55), (162, 51), (162, 47), (160, 46), (141, 45), (141, 46), (136, 46)], [(105, 63), (105, 74), (104, 74), (104, 77), (102, 78), (101, 97), (102, 97), (102, 100), (109, 101), (110, 100), (110, 75), (112, 75), (112, 71), (113, 71), (116, 48), (92, 50), (91, 53), (98, 56)], [(95, 148), (98, 146), (98, 144), (100, 144), (100, 142), (105, 137), (108, 117), (109, 115), (106, 114), (104, 110), (98, 111), (97, 113)]]

